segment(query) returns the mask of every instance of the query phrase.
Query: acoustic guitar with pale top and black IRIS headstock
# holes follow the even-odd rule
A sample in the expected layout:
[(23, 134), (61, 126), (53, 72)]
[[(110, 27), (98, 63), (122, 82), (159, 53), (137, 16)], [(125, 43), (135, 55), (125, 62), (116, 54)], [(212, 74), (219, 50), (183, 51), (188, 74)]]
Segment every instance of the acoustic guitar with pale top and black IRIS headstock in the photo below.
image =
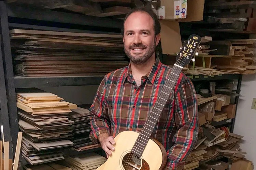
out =
[[(177, 82), (182, 68), (190, 63), (201, 37), (190, 35), (185, 45), (177, 53), (176, 62), (157, 101), (148, 114), (147, 120), (141, 132), (123, 131), (117, 134), (115, 140), (115, 151), (108, 157), (105, 163), (96, 170), (161, 170), (167, 162), (166, 149), (150, 136), (160, 117), (169, 95)], [(196, 53), (198, 55), (198, 53)], [(193, 59), (192, 59), (193, 60)]]

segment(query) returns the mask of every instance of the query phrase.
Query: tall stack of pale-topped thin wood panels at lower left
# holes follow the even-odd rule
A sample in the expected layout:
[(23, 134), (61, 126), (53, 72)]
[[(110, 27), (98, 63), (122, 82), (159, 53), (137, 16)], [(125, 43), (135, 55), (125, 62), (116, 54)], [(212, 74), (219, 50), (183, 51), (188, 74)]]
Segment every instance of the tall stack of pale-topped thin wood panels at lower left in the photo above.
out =
[(63, 148), (73, 145), (69, 113), (77, 106), (36, 88), (17, 89), (16, 97), (22, 155), (32, 165), (64, 159)]

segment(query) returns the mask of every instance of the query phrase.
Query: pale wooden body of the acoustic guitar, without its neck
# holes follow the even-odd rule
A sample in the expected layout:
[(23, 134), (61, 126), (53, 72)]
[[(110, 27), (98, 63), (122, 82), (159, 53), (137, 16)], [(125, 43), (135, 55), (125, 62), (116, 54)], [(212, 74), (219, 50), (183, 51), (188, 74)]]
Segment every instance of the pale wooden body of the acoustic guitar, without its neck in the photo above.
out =
[(141, 159), (135, 161), (141, 165), (133, 161), (132, 158), (136, 156), (130, 151), (138, 136), (139, 133), (134, 131), (123, 131), (116, 135), (115, 151), (96, 170), (162, 170), (167, 162), (167, 153), (161, 143), (154, 139), (148, 140)]

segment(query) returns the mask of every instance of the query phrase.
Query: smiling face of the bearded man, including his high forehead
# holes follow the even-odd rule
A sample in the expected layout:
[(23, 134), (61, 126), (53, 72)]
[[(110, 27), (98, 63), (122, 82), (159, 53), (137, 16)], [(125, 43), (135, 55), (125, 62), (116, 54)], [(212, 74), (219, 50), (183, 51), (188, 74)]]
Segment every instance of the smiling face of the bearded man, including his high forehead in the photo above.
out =
[(145, 12), (132, 13), (124, 24), (125, 53), (134, 64), (145, 63), (154, 53), (159, 36), (155, 37), (154, 20)]

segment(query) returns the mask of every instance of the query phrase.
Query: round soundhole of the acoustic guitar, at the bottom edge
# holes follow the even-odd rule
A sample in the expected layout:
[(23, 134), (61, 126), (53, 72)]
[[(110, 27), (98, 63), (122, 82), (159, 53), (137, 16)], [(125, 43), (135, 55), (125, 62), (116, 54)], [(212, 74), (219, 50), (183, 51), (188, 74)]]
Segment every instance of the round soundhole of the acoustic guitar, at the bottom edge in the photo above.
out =
[(125, 170), (139, 170), (141, 167), (141, 158), (136, 154), (127, 153), (122, 160), (122, 165)]

